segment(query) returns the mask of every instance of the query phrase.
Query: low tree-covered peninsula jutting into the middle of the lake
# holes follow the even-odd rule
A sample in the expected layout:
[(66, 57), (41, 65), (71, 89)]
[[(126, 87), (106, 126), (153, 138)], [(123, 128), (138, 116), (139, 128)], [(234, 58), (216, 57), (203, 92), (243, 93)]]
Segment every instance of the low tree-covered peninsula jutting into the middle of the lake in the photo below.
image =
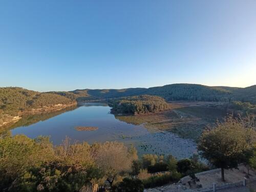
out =
[(122, 114), (145, 114), (168, 110), (168, 103), (158, 96), (140, 95), (111, 101), (112, 112)]

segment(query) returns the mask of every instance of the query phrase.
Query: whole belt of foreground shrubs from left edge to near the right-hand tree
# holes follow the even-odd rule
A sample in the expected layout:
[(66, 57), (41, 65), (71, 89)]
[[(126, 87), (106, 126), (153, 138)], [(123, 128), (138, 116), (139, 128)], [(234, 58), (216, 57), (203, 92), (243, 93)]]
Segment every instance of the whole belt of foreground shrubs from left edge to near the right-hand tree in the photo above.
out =
[[(53, 146), (47, 137), (0, 137), (1, 191), (92, 191), (106, 182), (112, 191), (129, 191), (129, 185), (143, 191), (205, 168), (195, 158), (147, 154), (138, 159), (134, 147), (118, 142), (71, 144), (67, 138)], [(153, 174), (160, 171), (168, 172)]]

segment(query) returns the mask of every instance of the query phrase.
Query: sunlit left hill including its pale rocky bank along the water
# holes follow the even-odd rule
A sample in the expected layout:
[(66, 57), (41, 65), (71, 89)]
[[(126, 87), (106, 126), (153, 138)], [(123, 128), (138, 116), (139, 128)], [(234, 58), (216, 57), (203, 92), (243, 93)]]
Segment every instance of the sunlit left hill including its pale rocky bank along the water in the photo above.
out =
[(23, 88), (0, 88), (0, 126), (18, 120), (20, 113), (61, 109), (76, 102), (66, 96)]

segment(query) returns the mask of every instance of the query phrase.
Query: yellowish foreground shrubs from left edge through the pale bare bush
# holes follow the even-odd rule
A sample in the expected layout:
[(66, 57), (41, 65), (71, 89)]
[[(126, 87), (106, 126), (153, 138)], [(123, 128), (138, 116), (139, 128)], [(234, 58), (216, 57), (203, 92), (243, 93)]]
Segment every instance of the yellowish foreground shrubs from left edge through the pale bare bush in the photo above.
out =
[[(132, 152), (132, 153), (131, 153)], [(49, 138), (0, 138), (0, 191), (79, 191), (131, 172), (137, 156), (118, 142), (53, 146)], [(113, 178), (112, 178), (113, 177)]]

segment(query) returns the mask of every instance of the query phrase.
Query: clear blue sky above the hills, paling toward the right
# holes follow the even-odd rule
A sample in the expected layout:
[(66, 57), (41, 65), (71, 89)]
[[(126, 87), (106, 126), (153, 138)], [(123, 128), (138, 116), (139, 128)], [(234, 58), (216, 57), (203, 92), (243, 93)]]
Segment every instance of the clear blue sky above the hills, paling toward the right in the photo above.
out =
[(171, 83), (256, 84), (256, 1), (0, 3), (0, 87)]

